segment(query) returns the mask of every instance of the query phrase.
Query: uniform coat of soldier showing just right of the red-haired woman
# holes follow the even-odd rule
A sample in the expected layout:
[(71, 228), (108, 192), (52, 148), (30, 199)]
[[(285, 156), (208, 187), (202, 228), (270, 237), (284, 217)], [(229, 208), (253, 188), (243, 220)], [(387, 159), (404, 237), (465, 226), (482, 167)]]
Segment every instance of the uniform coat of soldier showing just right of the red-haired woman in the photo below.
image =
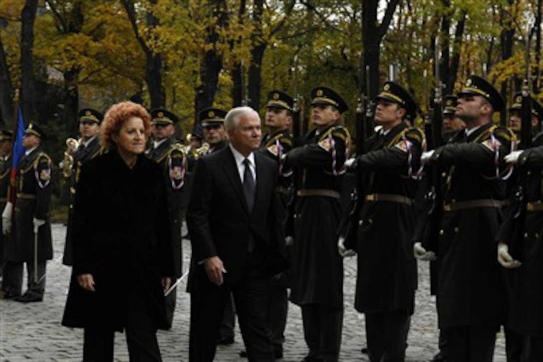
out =
[(181, 225), (183, 219), (183, 205), (185, 197), (185, 172), (187, 158), (179, 143), (172, 138), (166, 139), (159, 147), (149, 151), (148, 157), (157, 162), (164, 175), (166, 195), (168, 199), (168, 215), (171, 225), (172, 242), (174, 247), (175, 276), (181, 276)]

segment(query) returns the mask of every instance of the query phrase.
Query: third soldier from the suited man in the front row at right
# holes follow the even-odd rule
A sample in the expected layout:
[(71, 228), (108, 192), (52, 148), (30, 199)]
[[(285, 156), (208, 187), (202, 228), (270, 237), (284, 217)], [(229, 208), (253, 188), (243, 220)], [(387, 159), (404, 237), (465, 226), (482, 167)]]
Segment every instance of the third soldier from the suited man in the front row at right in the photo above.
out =
[[(381, 129), (353, 163), (358, 200), (347, 245), (358, 254), (355, 308), (365, 315), (369, 358), (403, 361), (417, 283), (413, 200), (424, 137), (409, 126), (416, 105), (403, 87), (386, 82), (375, 102)], [(343, 254), (343, 238), (338, 246)]]

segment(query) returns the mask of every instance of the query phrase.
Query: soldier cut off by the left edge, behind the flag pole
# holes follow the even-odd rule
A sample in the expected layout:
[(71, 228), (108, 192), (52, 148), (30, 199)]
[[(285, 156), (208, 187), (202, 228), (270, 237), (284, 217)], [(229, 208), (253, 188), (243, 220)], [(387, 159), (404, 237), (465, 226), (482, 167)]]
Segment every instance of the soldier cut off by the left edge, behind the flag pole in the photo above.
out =
[[(11, 149), (13, 147), (13, 132), (0, 129), (0, 210), (4, 210), (5, 205), (8, 202), (8, 189), (9, 189), (9, 181), (10, 181), (10, 173), (11, 173)], [(1, 219), (0, 219), (1, 220)], [(3, 225), (4, 221), (2, 220), (2, 230), (4, 230), (4, 227), (11, 228), (11, 220), (7, 220), (8, 225)], [(7, 229), (6, 229), (7, 230)], [(7, 244), (6, 238), (8, 235), (4, 235), (4, 233), (0, 233), (0, 276), (3, 277), (2, 279), (2, 294), (3, 297), (8, 295), (9, 297), (9, 288), (7, 284), (9, 284), (9, 272), (8, 275), (4, 274), (4, 266), (6, 265), (5, 261), (5, 245)], [(8, 267), (9, 268), (9, 267)]]

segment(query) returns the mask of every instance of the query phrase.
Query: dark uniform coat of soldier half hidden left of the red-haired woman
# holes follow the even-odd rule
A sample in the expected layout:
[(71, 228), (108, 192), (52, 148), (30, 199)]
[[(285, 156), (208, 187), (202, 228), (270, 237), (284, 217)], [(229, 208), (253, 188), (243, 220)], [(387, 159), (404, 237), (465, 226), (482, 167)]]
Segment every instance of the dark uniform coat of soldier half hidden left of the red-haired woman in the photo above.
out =
[(98, 137), (94, 137), (91, 142), (85, 147), (84, 144), (80, 144), (78, 149), (75, 150), (73, 155), (73, 169), (70, 176), (70, 208), (68, 209), (68, 226), (66, 228), (66, 243), (64, 244), (64, 256), (62, 256), (62, 263), (64, 265), (73, 264), (73, 202), (75, 200), (75, 189), (77, 182), (79, 181), (79, 173), (81, 172), (81, 166), (92, 158), (102, 154), (103, 148), (100, 147)]

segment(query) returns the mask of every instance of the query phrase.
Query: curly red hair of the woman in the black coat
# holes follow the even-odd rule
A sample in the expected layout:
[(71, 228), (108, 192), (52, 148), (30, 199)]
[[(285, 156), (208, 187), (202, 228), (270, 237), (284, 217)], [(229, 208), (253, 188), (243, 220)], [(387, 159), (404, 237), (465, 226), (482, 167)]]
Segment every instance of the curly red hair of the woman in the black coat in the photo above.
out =
[(131, 117), (140, 117), (143, 119), (143, 127), (145, 136), (149, 138), (151, 134), (151, 115), (140, 104), (124, 101), (113, 104), (108, 112), (105, 113), (104, 122), (100, 126), (100, 143), (109, 149), (115, 142), (111, 139), (111, 135), (118, 135), (123, 124)]

